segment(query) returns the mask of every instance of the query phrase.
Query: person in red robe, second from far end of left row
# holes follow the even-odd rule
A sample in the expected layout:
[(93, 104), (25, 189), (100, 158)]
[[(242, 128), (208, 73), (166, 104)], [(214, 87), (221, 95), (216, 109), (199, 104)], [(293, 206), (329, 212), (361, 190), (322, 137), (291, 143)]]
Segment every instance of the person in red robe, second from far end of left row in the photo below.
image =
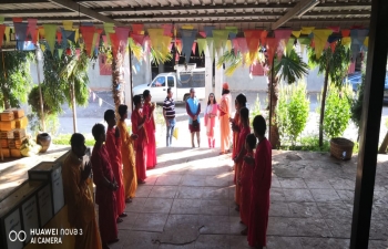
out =
[(132, 122), (132, 133), (137, 135), (135, 141), (135, 151), (136, 151), (136, 178), (139, 184), (145, 184), (146, 178), (146, 144), (149, 143), (149, 137), (146, 129), (144, 127), (145, 116), (141, 112), (142, 107), (142, 97), (136, 95), (133, 97), (133, 104), (135, 110), (132, 112), (131, 122)]

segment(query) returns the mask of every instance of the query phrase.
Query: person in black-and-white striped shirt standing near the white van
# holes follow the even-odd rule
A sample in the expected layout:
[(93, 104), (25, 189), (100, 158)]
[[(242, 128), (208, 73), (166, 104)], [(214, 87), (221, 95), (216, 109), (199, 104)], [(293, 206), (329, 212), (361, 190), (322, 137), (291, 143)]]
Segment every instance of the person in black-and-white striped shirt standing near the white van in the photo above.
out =
[(171, 87), (167, 89), (167, 96), (164, 100), (163, 104), (163, 116), (165, 120), (165, 124), (167, 126), (167, 134), (165, 138), (166, 147), (171, 146), (171, 142), (173, 138), (173, 133), (175, 128), (175, 102), (173, 100), (173, 92)]

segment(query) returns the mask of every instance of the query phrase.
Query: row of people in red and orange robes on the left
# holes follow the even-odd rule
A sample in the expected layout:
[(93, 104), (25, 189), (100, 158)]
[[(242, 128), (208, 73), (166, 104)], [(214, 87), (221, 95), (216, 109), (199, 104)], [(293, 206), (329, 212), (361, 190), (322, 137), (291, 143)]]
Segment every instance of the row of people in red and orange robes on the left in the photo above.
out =
[[(125, 123), (126, 105), (118, 108), (119, 122), (113, 110), (105, 111), (106, 131), (103, 124), (92, 128), (95, 144), (90, 162), (83, 163), (84, 136), (74, 133), (71, 137), (71, 152), (64, 160), (62, 176), (70, 226), (83, 231), (75, 237), (74, 248), (106, 249), (109, 243), (118, 242), (116, 224), (127, 216), (125, 205), (135, 197), (137, 184), (145, 183), (146, 169), (156, 166), (155, 105), (151, 103), (150, 91), (144, 91), (143, 96), (143, 105), (141, 96), (133, 98), (131, 135)], [(99, 226), (91, 179), (96, 188)]]

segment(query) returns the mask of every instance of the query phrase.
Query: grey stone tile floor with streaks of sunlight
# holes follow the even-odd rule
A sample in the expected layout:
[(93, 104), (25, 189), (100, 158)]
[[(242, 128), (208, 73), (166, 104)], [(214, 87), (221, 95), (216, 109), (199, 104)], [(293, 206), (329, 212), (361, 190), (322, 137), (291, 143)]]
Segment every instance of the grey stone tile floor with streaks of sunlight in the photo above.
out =
[[(67, 149), (0, 164), (0, 194), (25, 179), (39, 160), (55, 159)], [(157, 155), (156, 168), (126, 205), (120, 241), (111, 248), (249, 248), (234, 210), (229, 155), (186, 147), (161, 147)], [(273, 151), (267, 248), (349, 248), (356, 164), (357, 156), (340, 162), (325, 153)], [(387, 249), (388, 156), (378, 156), (376, 177), (369, 248)]]

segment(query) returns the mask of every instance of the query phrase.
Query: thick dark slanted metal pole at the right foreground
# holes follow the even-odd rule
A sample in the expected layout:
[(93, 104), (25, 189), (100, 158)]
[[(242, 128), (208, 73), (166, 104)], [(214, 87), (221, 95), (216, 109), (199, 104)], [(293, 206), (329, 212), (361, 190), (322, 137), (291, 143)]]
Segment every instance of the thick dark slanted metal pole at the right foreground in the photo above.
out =
[[(387, 0), (372, 0), (370, 12), (369, 45), (364, 90), (360, 147), (358, 153), (355, 203), (353, 209), (351, 249), (367, 249), (374, 188), (377, 149), (388, 53)], [(382, 228), (386, 229), (386, 228)]]

